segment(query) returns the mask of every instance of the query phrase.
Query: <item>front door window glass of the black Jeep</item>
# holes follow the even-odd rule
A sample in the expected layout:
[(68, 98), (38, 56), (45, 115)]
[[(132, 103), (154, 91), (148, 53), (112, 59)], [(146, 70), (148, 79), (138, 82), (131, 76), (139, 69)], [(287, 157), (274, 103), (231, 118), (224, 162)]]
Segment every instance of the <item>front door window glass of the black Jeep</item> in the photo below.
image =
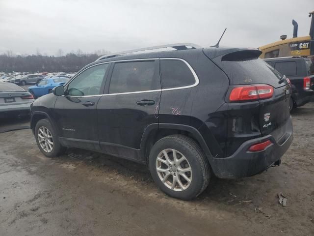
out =
[(80, 73), (70, 82), (67, 95), (90, 96), (100, 94), (108, 64), (96, 65)]

